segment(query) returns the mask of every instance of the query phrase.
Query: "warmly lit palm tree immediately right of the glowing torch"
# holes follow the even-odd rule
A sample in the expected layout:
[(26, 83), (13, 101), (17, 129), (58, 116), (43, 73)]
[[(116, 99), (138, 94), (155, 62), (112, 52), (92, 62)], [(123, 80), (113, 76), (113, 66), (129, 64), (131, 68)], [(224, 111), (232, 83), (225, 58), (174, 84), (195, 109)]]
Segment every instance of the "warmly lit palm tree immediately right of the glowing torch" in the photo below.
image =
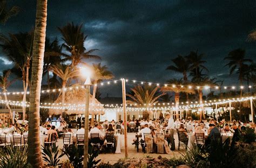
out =
[[(114, 78), (112, 72), (108, 71), (107, 66), (104, 65), (102, 66), (100, 63), (99, 64), (92, 64), (93, 66), (93, 83), (98, 83), (102, 80), (107, 80), (107, 79), (112, 79)], [(92, 97), (95, 98), (96, 96), (96, 90), (97, 90), (97, 85), (93, 85), (93, 92), (92, 92)], [(93, 99), (94, 100), (94, 99)], [(94, 124), (94, 114), (92, 114), (92, 118), (91, 118), (91, 125)]]

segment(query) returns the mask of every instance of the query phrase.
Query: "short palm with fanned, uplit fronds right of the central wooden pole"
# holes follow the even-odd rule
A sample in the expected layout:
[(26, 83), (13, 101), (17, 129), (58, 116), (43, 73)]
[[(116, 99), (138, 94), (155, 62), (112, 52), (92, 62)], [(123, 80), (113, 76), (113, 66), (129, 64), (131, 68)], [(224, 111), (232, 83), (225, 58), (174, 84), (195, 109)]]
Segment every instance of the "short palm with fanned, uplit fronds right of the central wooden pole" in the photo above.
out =
[(143, 118), (148, 119), (150, 112), (148, 108), (152, 107), (153, 104), (158, 103), (158, 100), (164, 93), (159, 92), (159, 87), (149, 86), (147, 84), (143, 86), (135, 86), (131, 88), (133, 94), (126, 94), (131, 100), (127, 100), (127, 104), (130, 103), (135, 107), (144, 107)]

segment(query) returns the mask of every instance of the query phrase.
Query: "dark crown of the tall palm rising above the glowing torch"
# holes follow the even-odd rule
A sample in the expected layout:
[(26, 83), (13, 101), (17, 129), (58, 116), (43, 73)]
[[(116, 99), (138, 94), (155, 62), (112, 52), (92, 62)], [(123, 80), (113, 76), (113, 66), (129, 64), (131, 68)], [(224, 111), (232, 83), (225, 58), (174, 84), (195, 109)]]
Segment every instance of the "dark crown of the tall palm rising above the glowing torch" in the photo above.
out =
[(68, 23), (68, 25), (63, 27), (58, 27), (60, 33), (62, 33), (62, 39), (64, 43), (62, 46), (66, 51), (70, 53), (70, 55), (64, 54), (63, 62), (70, 61), (71, 68), (76, 67), (78, 64), (85, 64), (83, 59), (98, 59), (100, 57), (98, 55), (93, 55), (92, 53), (97, 49), (92, 49), (86, 51), (84, 47), (84, 42), (87, 36), (82, 32), (81, 25), (74, 25), (73, 22)]

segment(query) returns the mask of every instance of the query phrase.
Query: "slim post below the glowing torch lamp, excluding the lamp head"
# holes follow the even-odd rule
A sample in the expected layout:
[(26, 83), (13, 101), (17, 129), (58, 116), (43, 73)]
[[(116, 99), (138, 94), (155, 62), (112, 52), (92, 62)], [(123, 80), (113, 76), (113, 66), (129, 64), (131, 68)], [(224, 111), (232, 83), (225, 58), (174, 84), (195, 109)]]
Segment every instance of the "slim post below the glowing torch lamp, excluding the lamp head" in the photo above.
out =
[(89, 99), (90, 99), (90, 85), (85, 88), (85, 118), (84, 118), (84, 168), (87, 168), (88, 158), (88, 134), (89, 134)]

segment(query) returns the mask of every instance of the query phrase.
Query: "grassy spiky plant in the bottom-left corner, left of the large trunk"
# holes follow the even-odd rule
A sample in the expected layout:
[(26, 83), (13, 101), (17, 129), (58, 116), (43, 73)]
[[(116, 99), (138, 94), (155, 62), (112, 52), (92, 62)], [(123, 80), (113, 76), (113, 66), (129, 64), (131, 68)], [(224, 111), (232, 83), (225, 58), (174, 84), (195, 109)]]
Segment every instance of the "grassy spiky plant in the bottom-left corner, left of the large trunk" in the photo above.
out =
[(27, 148), (14, 148), (14, 146), (7, 146), (5, 153), (0, 153), (0, 167), (5, 168), (23, 168), (28, 166), (27, 162)]

